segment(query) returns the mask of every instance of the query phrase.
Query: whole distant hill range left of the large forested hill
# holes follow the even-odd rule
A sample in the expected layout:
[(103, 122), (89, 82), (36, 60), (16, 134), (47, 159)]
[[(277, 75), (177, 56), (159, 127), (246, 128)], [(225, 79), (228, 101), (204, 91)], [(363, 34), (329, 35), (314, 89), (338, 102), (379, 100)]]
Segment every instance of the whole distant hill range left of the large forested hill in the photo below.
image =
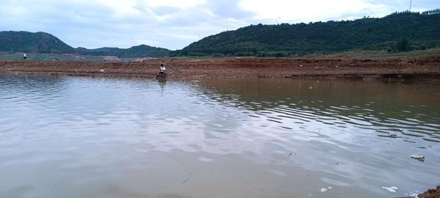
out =
[(74, 48), (52, 34), (45, 32), (0, 32), (0, 52), (32, 52), (40, 54), (80, 54), (93, 56), (118, 56), (120, 58), (163, 57), (169, 50), (148, 45), (134, 46), (129, 49), (103, 47), (88, 50)]

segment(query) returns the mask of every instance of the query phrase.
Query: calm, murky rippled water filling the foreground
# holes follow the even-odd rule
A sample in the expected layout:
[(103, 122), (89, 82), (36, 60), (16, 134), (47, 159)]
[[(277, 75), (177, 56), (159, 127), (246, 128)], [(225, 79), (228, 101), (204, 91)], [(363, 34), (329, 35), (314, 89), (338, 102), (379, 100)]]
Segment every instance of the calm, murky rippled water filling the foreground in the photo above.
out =
[(438, 83), (0, 76), (0, 87), (0, 197), (399, 197), (440, 183)]

